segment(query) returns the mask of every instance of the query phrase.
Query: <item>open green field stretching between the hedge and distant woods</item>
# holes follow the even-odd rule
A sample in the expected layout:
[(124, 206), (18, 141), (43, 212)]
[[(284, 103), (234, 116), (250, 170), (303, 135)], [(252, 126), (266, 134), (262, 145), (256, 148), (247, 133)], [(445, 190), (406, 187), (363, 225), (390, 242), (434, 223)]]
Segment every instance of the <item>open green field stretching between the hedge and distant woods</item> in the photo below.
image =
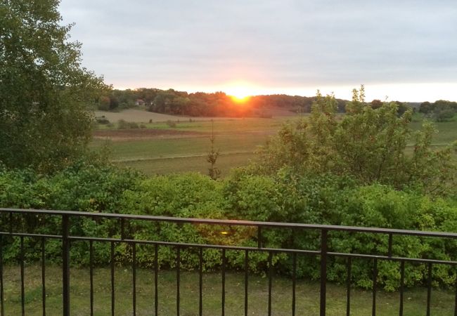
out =
[[(286, 121), (295, 117), (275, 117), (273, 119), (215, 119), (214, 121), (198, 118), (180, 118), (175, 127), (166, 122), (145, 123), (146, 129), (160, 131), (179, 131), (189, 133), (182, 136), (161, 136), (141, 138), (134, 137), (116, 139), (98, 137), (91, 147), (98, 148), (108, 143), (113, 162), (122, 166), (139, 169), (146, 174), (165, 174), (182, 171), (198, 171), (207, 173), (210, 164), (206, 161), (210, 152), (210, 136), (214, 128), (214, 149), (219, 150), (217, 167), (222, 176), (226, 176), (231, 168), (243, 166), (255, 158), (255, 150), (263, 145), (270, 136), (275, 135)], [(129, 117), (126, 117), (128, 121)], [(420, 129), (422, 117), (416, 115), (411, 127)], [(106, 126), (100, 129), (109, 132)], [(449, 145), (457, 140), (457, 119), (436, 123), (439, 133), (432, 143), (437, 147)], [(115, 129), (112, 126), (111, 129)], [(138, 130), (132, 130), (132, 133)], [(108, 142), (107, 142), (108, 140)]]

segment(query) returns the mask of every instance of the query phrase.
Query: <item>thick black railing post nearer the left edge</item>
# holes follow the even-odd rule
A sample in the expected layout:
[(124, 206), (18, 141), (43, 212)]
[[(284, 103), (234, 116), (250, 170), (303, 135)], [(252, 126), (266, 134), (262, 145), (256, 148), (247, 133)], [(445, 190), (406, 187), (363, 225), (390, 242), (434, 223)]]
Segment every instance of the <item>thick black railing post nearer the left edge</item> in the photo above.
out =
[(68, 215), (62, 216), (62, 287), (63, 316), (70, 316), (70, 239)]

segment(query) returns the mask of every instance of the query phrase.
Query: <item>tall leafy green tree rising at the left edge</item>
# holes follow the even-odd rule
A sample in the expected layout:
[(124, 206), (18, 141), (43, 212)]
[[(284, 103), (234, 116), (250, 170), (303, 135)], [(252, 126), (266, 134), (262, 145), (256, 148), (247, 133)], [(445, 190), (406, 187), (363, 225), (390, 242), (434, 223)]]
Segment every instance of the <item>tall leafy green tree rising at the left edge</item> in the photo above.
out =
[(53, 171), (84, 152), (93, 115), (107, 88), (81, 67), (71, 25), (60, 25), (58, 0), (0, 4), (0, 162)]

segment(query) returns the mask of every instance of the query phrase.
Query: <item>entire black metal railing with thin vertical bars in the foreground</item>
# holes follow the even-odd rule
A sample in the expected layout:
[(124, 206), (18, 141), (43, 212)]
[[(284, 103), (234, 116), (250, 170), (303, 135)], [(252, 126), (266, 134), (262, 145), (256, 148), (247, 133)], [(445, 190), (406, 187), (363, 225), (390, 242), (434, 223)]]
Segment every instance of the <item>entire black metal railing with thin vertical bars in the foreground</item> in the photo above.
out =
[[(19, 216), (59, 216), (61, 217), (60, 234), (37, 234), (31, 232), (15, 231), (13, 214)], [(181, 249), (198, 249), (198, 274), (199, 274), (199, 315), (202, 315), (202, 266), (203, 266), (203, 249), (219, 249), (221, 250), (221, 315), (225, 314), (225, 287), (226, 287), (226, 251), (236, 250), (244, 251), (244, 311), (247, 315), (248, 306), (248, 264), (249, 254), (252, 251), (267, 252), (268, 256), (268, 315), (271, 315), (271, 298), (272, 298), (272, 278), (273, 278), (273, 254), (285, 253), (292, 256), (292, 306), (291, 315), (295, 315), (296, 305), (296, 272), (297, 272), (297, 255), (307, 254), (311, 256), (320, 257), (320, 315), (326, 315), (326, 285), (327, 285), (327, 265), (328, 256), (346, 258), (347, 265), (347, 297), (346, 297), (346, 314), (349, 315), (351, 310), (351, 279), (352, 279), (352, 259), (363, 258), (366, 260), (373, 260), (373, 301), (372, 301), (372, 315), (376, 314), (376, 294), (378, 291), (378, 261), (397, 261), (400, 263), (400, 284), (399, 284), (399, 315), (404, 313), (404, 277), (405, 277), (405, 263), (422, 263), (427, 265), (427, 305), (426, 314), (430, 315), (430, 303), (432, 294), (432, 266), (433, 265), (451, 265), (456, 266), (457, 261), (451, 260), (435, 260), (432, 258), (409, 258), (401, 256), (392, 256), (392, 240), (396, 235), (409, 235), (417, 237), (436, 237), (446, 239), (457, 239), (457, 233), (450, 232), (425, 232), (417, 230), (396, 230), (385, 228), (361, 228), (352, 226), (337, 226), (337, 225), (309, 225), (300, 223), (272, 223), (272, 222), (257, 222), (247, 220), (212, 220), (204, 218), (174, 218), (167, 216), (141, 216), (141, 215), (127, 215), (117, 213), (90, 213), (79, 211), (49, 211), (49, 210), (35, 210), (35, 209), (0, 209), (0, 216), (2, 216), (2, 224), (7, 222), (9, 225), (7, 231), (0, 231), (0, 301), (1, 316), (5, 315), (4, 311), (4, 236), (18, 237), (20, 239), (20, 293), (21, 293), (21, 310), (22, 315), (25, 315), (25, 287), (24, 287), (24, 256), (25, 246), (24, 238), (29, 237), (41, 240), (41, 289), (42, 289), (42, 313), (46, 315), (46, 284), (45, 284), (45, 242), (46, 239), (61, 239), (62, 240), (62, 285), (63, 285), (63, 315), (70, 315), (70, 243), (75, 241), (89, 242), (89, 277), (90, 277), (90, 313), (94, 315), (94, 242), (110, 243), (110, 285), (111, 285), (111, 314), (115, 315), (115, 244), (126, 243), (131, 245), (132, 249), (132, 312), (136, 315), (136, 246), (138, 244), (150, 244), (154, 246), (154, 302), (155, 302), (155, 315), (159, 314), (158, 309), (158, 287), (157, 287), (157, 274), (159, 265), (157, 263), (157, 248), (158, 246), (170, 246), (176, 248), (176, 315), (180, 313), (180, 268), (181, 268)], [(6, 220), (4, 217), (6, 216)], [(15, 215), (17, 216), (17, 215)], [(76, 236), (70, 235), (70, 220), (71, 218), (95, 218), (95, 219), (110, 219), (120, 221), (120, 237), (98, 237), (98, 236)], [(186, 242), (169, 242), (164, 240), (142, 240), (127, 238), (125, 234), (125, 225), (129, 220), (153, 221), (153, 222), (172, 222), (172, 223), (192, 223), (195, 225), (225, 225), (225, 226), (249, 226), (257, 228), (257, 247), (252, 246), (233, 246), (224, 244), (195, 244)], [(262, 244), (262, 229), (268, 228), (283, 228), (290, 230), (318, 230), (320, 232), (320, 249), (288, 249), (288, 248), (269, 248)], [(359, 232), (366, 234), (385, 235), (388, 239), (387, 254), (354, 254), (328, 251), (328, 232)], [(457, 316), (457, 282), (456, 282), (456, 298), (454, 306), (454, 315)]]

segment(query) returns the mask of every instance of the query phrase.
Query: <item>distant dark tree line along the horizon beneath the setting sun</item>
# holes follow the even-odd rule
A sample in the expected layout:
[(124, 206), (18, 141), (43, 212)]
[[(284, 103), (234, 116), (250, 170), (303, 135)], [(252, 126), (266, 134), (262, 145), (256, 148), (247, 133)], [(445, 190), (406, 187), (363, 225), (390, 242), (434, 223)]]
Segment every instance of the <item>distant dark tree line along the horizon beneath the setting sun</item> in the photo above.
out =
[[(335, 98), (337, 112), (346, 112), (349, 102)], [(316, 96), (289, 96), (273, 94), (251, 96), (240, 105), (231, 96), (222, 91), (214, 93), (176, 91), (172, 88), (162, 90), (158, 88), (112, 89), (107, 91), (98, 100), (98, 110), (122, 110), (136, 105), (146, 107), (150, 112), (172, 115), (187, 115), (191, 117), (271, 117), (272, 108), (280, 108), (295, 113), (311, 113), (311, 106)], [(367, 103), (373, 109), (378, 109), (384, 102), (374, 99)], [(457, 103), (437, 100), (435, 103), (424, 102), (411, 104), (394, 101), (397, 104), (397, 114), (404, 114), (408, 109), (425, 114), (436, 121), (452, 119), (457, 112)]]

